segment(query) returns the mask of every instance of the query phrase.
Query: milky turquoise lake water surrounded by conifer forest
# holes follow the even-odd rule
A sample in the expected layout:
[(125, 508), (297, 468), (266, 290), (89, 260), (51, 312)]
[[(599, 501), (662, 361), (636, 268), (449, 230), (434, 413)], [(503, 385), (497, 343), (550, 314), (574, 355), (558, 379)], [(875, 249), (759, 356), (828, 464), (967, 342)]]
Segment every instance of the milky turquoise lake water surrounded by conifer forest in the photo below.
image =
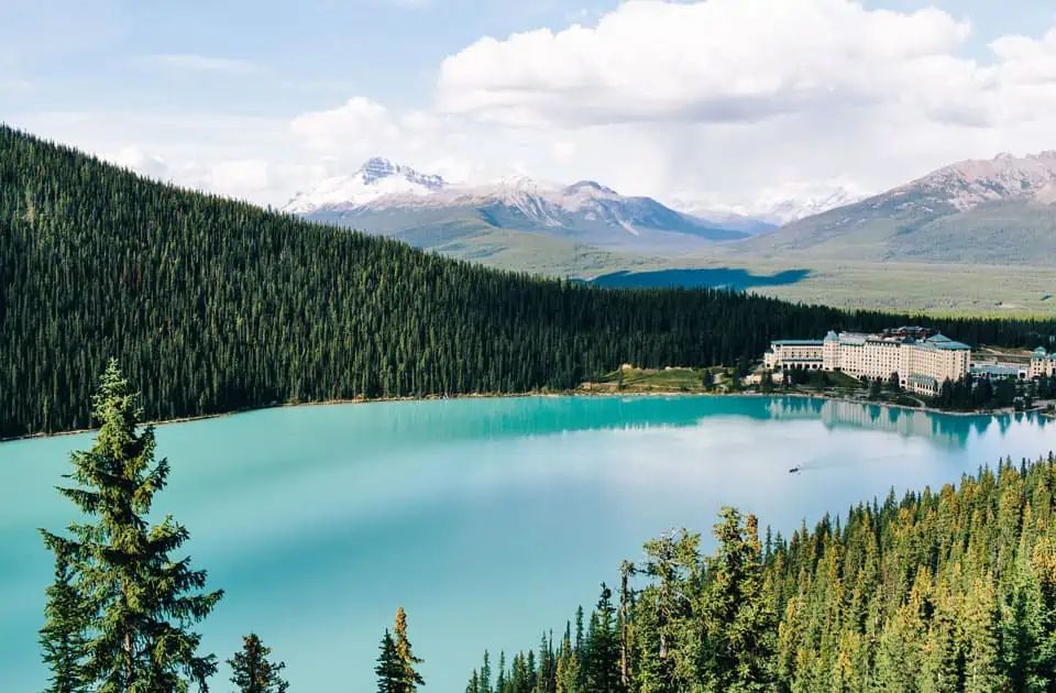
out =
[[(293, 690), (369, 691), (402, 605), (426, 690), (458, 692), (485, 648), (535, 647), (666, 529), (707, 531), (728, 504), (789, 534), (892, 486), (1047, 453), (1056, 424), (799, 398), (526, 397), (270, 409), (157, 438), (173, 474), (155, 509), (188, 527), (195, 564), (227, 591), (201, 626), (208, 651), (227, 659), (253, 630)], [(52, 563), (36, 528), (75, 519), (53, 487), (90, 440), (0, 444), (2, 691), (43, 688)], [(218, 676), (213, 690), (229, 688)]]

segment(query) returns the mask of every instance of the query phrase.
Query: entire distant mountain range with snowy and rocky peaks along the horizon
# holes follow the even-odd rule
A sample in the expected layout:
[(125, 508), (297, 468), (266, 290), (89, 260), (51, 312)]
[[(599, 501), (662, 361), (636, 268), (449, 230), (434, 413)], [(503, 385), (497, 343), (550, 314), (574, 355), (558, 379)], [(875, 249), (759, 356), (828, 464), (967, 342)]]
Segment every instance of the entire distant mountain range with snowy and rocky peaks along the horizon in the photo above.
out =
[[(642, 258), (1042, 264), (1056, 256), (1056, 152), (944, 166), (859, 199), (846, 188), (752, 215), (624, 196), (593, 180), (452, 184), (372, 158), (284, 210), (532, 272), (591, 274)], [(805, 266), (805, 265), (804, 265)]]

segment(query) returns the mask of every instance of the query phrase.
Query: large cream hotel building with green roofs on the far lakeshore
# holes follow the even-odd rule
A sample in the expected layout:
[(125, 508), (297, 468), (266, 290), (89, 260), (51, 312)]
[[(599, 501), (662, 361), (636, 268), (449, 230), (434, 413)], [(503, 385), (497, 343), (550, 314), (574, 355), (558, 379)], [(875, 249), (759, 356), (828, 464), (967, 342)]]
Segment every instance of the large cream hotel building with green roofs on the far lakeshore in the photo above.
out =
[(898, 373), (902, 387), (930, 396), (937, 395), (945, 381), (965, 377), (970, 364), (970, 346), (922, 328), (777, 340), (763, 356), (769, 371), (840, 371), (870, 381), (887, 381)]

